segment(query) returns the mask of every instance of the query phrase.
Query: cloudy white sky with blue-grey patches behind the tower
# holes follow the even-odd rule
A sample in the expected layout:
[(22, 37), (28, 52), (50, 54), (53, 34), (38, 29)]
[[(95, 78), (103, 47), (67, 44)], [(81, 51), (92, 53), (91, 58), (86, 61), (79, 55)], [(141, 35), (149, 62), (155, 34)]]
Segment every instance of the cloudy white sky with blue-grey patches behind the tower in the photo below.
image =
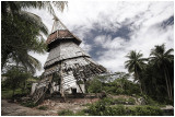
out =
[[(79, 38), (91, 57), (108, 70), (127, 71), (124, 62), (130, 50), (149, 57), (155, 45), (174, 48), (174, 2), (68, 1), (63, 13), (56, 11), (62, 23)], [(51, 32), (52, 16), (38, 14)], [(44, 66), (48, 54), (32, 54)], [(44, 70), (43, 70), (44, 71)], [(39, 75), (43, 71), (37, 71)]]

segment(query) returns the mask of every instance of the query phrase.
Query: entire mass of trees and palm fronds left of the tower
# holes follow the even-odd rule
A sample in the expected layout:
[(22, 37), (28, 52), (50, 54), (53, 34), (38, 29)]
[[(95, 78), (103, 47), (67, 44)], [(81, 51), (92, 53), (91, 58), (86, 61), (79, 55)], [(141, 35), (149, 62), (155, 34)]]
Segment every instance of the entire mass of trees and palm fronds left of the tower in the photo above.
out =
[[(48, 30), (42, 19), (28, 12), (28, 9), (46, 9), (54, 17), (52, 7), (60, 11), (67, 5), (66, 1), (2, 1), (1, 2), (1, 70), (8, 79), (2, 83), (3, 97), (30, 93), (28, 78), (40, 69), (40, 62), (30, 52), (44, 54), (46, 44), (43, 35)], [(14, 65), (9, 69), (9, 65)], [(22, 68), (22, 69), (21, 69)], [(22, 89), (22, 90), (21, 90)]]

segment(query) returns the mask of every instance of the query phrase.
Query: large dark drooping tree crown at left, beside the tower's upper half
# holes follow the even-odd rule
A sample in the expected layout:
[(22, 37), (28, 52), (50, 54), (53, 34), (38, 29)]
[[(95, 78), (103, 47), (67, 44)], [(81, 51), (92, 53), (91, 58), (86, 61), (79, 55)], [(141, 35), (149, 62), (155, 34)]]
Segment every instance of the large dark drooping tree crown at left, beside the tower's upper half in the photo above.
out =
[[(2, 68), (9, 58), (18, 55), (26, 55), (27, 51), (43, 54), (45, 50), (44, 39), (39, 33), (47, 35), (48, 30), (39, 16), (21, 12), (12, 16), (2, 15)], [(40, 39), (40, 40), (39, 40)]]

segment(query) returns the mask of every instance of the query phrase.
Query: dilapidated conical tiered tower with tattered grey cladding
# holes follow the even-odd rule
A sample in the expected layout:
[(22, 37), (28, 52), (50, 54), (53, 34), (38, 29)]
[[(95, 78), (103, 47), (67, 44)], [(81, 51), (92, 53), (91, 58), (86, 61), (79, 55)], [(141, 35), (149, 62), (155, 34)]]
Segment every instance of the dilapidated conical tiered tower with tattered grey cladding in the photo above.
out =
[(81, 42), (58, 19), (55, 20), (46, 40), (49, 55), (44, 66), (44, 78), (33, 84), (31, 92), (35, 102), (47, 91), (50, 94), (58, 92), (62, 97), (65, 94), (85, 93), (85, 82), (107, 71), (79, 46)]

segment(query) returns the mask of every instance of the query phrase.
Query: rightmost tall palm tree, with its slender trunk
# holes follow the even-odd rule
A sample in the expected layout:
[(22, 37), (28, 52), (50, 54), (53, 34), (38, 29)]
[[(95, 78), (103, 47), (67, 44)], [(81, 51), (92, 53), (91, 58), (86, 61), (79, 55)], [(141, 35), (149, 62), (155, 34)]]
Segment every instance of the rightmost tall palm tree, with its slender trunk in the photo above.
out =
[(172, 101), (173, 100), (173, 86), (172, 86), (172, 81), (171, 81), (171, 75), (170, 72), (172, 71), (171, 65), (174, 61), (174, 55), (172, 55), (171, 52), (173, 51), (173, 49), (168, 49), (167, 51), (165, 50), (165, 45), (161, 45), (161, 46), (155, 46), (155, 48), (153, 48), (151, 50), (150, 54), (150, 62), (152, 62), (156, 68), (160, 69), (160, 72), (163, 71), (164, 73), (164, 79), (166, 81), (166, 90), (167, 90), (167, 95), (168, 98)]

